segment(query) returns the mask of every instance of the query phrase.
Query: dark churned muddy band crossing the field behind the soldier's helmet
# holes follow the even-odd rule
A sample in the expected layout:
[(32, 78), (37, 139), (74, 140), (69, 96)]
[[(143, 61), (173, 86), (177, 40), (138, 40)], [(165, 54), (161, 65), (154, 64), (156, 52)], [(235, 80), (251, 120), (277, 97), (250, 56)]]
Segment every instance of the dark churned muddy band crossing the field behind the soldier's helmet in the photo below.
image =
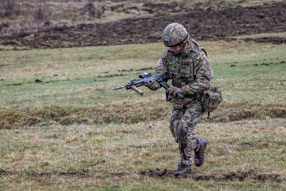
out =
[[(144, 6), (146, 9), (154, 9), (155, 5), (145, 3)], [(169, 7), (170, 10), (166, 13), (155, 13), (150, 17), (123, 19), (112, 23), (50, 27), (36, 33), (0, 36), (0, 44), (33, 49), (161, 42), (162, 31), (173, 22), (182, 23), (195, 40), (232, 40), (232, 37), (239, 35), (286, 31), (286, 2), (256, 7), (229, 5), (206, 10), (197, 6), (187, 10), (187, 13), (174, 14), (178, 6), (173, 6), (174, 10)], [(173, 12), (173, 15), (168, 12)], [(281, 44), (286, 39), (248, 38), (247, 41)]]

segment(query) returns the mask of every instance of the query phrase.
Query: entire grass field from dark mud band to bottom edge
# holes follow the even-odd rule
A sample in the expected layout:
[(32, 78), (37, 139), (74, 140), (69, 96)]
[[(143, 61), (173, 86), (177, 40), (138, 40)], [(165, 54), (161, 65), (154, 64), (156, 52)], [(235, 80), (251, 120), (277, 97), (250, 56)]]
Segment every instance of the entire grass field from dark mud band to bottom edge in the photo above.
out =
[(199, 44), (224, 101), (179, 180), (164, 90), (114, 90), (154, 73), (162, 44), (2, 51), (0, 190), (285, 190), (285, 44)]

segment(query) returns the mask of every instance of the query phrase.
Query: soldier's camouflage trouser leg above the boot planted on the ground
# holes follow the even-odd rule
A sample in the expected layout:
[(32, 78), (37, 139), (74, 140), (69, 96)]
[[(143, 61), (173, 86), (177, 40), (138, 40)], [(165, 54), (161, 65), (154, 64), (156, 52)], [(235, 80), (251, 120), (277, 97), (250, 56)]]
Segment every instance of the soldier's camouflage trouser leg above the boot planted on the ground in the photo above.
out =
[(195, 135), (194, 128), (200, 123), (204, 112), (201, 110), (200, 101), (187, 108), (178, 126), (178, 143), (180, 161), (178, 166), (190, 166), (192, 164), (192, 151), (198, 149), (199, 140)]

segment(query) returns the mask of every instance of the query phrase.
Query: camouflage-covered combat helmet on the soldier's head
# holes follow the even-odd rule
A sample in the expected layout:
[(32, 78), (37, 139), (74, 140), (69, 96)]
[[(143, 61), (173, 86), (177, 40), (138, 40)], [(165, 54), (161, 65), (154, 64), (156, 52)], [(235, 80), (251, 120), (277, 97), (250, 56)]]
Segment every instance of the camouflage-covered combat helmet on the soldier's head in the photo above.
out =
[(187, 42), (189, 34), (185, 27), (179, 23), (169, 24), (162, 35), (163, 43), (167, 47), (177, 46)]

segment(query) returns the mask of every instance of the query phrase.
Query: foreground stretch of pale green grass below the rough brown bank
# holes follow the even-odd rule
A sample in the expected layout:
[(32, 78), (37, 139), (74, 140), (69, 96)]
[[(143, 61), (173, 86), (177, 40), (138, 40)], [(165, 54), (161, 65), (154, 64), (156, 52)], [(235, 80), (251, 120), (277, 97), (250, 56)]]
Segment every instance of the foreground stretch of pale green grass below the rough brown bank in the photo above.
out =
[[(285, 123), (285, 119), (267, 119), (198, 125), (196, 134), (209, 143), (206, 161), (179, 181), (171, 172), (179, 156), (167, 122), (2, 130), (0, 168), (6, 173), (1, 175), (0, 188), (283, 190)], [(140, 174), (156, 168), (170, 174), (163, 178)], [(239, 172), (249, 170), (256, 174), (239, 181)], [(234, 174), (233, 180), (226, 174)], [(212, 179), (195, 181), (199, 176)]]

